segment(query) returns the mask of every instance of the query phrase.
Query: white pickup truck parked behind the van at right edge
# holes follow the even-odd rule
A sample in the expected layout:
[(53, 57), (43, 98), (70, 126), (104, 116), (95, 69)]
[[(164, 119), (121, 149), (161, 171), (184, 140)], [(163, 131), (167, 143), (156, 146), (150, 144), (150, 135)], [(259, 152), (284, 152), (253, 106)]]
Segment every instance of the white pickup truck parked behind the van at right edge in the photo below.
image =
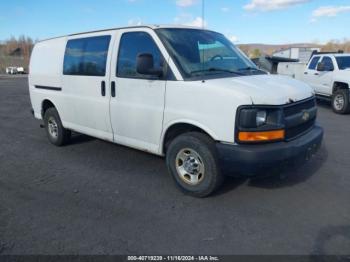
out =
[(350, 113), (350, 54), (315, 53), (306, 68), (304, 67), (303, 73), (299, 72), (302, 64), (299, 67), (290, 64), (281, 63), (278, 73), (293, 76), (309, 84), (318, 97), (332, 101), (334, 112)]

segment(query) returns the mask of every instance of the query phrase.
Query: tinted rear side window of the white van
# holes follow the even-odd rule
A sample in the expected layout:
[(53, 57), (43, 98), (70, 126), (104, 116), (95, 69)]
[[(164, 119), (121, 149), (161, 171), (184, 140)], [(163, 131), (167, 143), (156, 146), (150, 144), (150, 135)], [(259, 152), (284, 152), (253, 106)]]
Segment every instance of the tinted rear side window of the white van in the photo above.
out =
[(105, 76), (110, 36), (73, 39), (67, 42), (64, 75)]

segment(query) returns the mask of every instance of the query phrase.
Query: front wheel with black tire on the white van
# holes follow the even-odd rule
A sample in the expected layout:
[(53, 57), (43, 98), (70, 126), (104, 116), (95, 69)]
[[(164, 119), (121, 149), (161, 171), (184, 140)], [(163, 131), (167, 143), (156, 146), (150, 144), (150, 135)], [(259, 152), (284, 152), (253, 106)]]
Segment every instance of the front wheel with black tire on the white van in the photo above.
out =
[[(186, 150), (189, 151), (186, 153)], [(202, 133), (186, 133), (171, 141), (166, 152), (166, 164), (169, 173), (183, 192), (195, 197), (206, 197), (219, 188), (224, 176), (218, 164), (216, 151), (215, 142)], [(181, 152), (185, 153), (186, 161), (179, 160), (178, 155), (180, 156)], [(191, 162), (193, 160), (192, 154), (195, 155), (196, 159), (194, 163)], [(179, 163), (181, 161), (182, 165)], [(186, 164), (196, 165), (195, 168), (198, 170), (188, 173), (189, 171), (185, 170)], [(181, 175), (181, 172), (178, 172), (180, 168), (188, 174)], [(191, 178), (195, 176), (197, 176), (198, 182), (191, 184)]]

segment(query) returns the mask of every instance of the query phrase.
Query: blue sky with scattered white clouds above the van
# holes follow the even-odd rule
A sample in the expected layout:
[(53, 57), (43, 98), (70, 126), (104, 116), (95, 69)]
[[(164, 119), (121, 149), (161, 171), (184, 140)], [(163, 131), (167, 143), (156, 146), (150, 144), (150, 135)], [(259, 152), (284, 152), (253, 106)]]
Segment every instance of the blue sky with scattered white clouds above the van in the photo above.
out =
[[(350, 0), (204, 0), (204, 24), (236, 43), (350, 39)], [(201, 0), (1, 0), (0, 39), (138, 24), (200, 26)]]

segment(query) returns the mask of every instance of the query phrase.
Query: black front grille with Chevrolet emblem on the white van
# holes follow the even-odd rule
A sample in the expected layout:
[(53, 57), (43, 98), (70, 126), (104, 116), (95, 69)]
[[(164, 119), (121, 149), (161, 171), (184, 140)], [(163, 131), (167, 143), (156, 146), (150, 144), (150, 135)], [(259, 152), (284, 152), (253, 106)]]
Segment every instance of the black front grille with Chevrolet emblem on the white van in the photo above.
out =
[[(283, 107), (286, 140), (292, 140), (309, 131), (316, 122), (316, 99), (311, 98)], [(308, 113), (309, 118), (303, 118), (304, 113)]]

